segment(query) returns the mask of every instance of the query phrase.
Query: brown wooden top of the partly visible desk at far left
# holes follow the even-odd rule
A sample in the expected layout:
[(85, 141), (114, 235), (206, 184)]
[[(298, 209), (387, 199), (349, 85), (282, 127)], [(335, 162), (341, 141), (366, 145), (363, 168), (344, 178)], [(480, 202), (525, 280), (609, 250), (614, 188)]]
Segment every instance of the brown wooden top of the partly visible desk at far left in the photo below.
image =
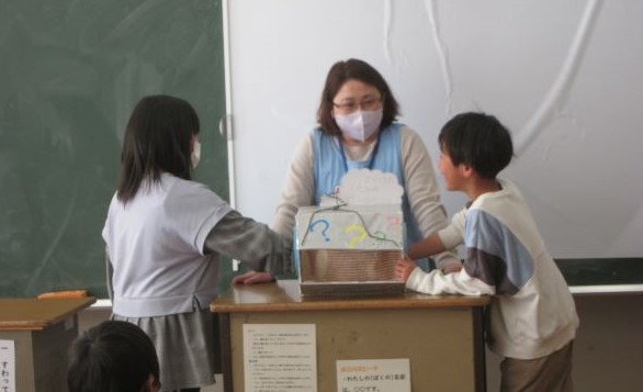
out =
[(44, 329), (94, 302), (94, 298), (0, 299), (0, 331)]

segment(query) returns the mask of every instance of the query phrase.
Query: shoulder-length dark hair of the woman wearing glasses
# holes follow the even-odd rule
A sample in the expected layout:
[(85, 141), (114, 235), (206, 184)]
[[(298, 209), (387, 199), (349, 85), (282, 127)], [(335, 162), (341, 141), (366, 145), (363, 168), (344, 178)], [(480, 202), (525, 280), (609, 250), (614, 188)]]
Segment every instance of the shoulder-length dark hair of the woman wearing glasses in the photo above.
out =
[(317, 122), (319, 123), (322, 131), (331, 135), (341, 134), (341, 131), (332, 117), (332, 99), (337, 96), (337, 92), (341, 89), (343, 83), (351, 79), (373, 86), (380, 91), (380, 96), (382, 96), (383, 111), (380, 128), (383, 130), (391, 125), (399, 114), (399, 105), (397, 104), (395, 97), (393, 97), (393, 92), (388, 88), (386, 80), (384, 80), (382, 75), (380, 75), (380, 72), (368, 63), (356, 58), (349, 58), (346, 61), (335, 63), (332, 67), (330, 67), (328, 76), (326, 77), (324, 91), (322, 91), (322, 101), (319, 102), (319, 109), (317, 109)]

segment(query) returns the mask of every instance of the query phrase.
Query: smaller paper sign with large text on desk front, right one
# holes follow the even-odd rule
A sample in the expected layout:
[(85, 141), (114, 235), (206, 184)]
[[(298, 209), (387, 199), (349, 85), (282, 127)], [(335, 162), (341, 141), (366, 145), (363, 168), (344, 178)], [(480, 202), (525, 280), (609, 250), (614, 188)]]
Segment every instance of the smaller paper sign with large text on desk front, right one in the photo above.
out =
[(337, 361), (338, 392), (410, 392), (410, 365), (402, 359)]

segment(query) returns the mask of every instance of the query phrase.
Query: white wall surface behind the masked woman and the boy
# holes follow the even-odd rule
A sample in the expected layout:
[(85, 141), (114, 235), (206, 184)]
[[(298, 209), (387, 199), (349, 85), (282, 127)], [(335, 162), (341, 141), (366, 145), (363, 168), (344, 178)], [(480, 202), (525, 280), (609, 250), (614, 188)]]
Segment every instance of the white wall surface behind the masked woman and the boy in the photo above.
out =
[[(554, 257), (643, 256), (643, 1), (232, 0), (237, 208), (271, 223), (329, 67), (362, 58), (437, 166), (441, 125), (497, 115)], [(441, 181), (441, 179), (439, 179)], [(464, 198), (443, 192), (449, 213)]]

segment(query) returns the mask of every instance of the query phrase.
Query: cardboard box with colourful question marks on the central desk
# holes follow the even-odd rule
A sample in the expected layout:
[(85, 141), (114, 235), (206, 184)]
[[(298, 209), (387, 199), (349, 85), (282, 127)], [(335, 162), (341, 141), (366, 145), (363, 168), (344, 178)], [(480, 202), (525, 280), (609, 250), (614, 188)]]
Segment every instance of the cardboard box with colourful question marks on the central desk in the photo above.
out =
[(404, 292), (395, 261), (404, 255), (399, 205), (301, 208), (295, 259), (303, 295), (386, 295)]

